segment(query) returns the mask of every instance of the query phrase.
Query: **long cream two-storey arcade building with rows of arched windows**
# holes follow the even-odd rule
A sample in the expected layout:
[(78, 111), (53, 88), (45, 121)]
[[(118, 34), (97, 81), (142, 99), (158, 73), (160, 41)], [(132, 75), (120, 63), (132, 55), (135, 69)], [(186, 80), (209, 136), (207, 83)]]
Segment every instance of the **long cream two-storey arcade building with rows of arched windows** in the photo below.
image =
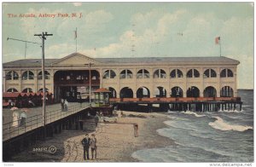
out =
[[(45, 60), (46, 90), (55, 101), (79, 101), (98, 88), (112, 97), (236, 97), (238, 60), (227, 57), (90, 58), (74, 53)], [(43, 89), (41, 60), (3, 63), (3, 92)]]

